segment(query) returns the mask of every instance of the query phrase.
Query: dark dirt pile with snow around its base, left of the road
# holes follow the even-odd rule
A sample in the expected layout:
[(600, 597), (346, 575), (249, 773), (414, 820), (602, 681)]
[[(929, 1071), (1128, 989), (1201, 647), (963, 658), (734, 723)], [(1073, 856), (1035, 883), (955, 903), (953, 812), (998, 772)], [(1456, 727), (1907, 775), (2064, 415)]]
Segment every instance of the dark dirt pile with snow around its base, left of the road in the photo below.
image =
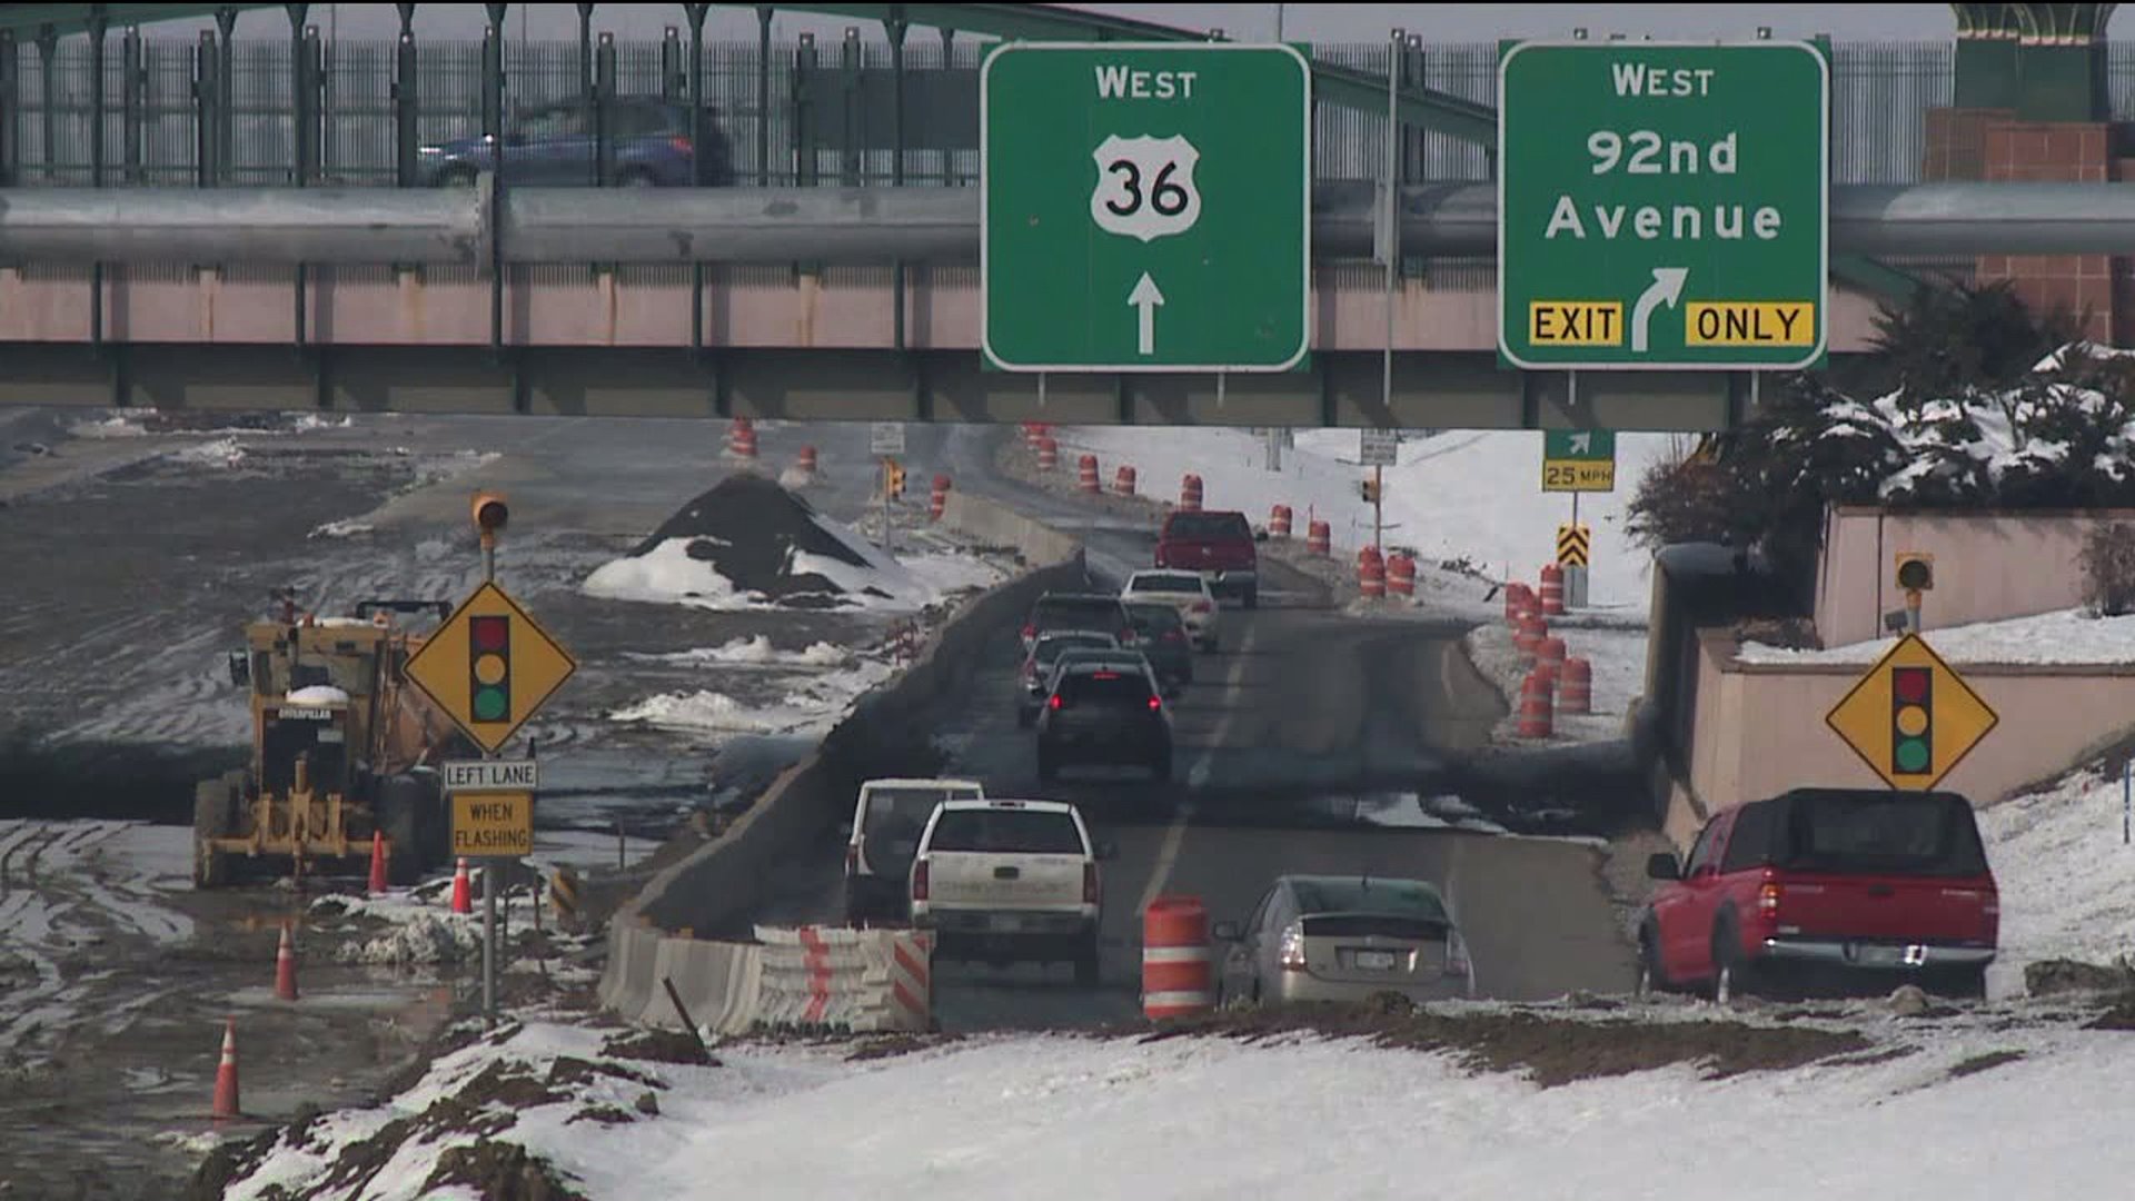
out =
[[(854, 543), (833, 532), (828, 517), (760, 474), (732, 474), (681, 506), (651, 532), (630, 558), (645, 558), (662, 545), (683, 541), (692, 560), (711, 564), (741, 592), (758, 592), (786, 605), (835, 605), (843, 592), (816, 571), (796, 571), (796, 556), (818, 556), (860, 571), (877, 571)], [(875, 596), (888, 596), (869, 588)]]

